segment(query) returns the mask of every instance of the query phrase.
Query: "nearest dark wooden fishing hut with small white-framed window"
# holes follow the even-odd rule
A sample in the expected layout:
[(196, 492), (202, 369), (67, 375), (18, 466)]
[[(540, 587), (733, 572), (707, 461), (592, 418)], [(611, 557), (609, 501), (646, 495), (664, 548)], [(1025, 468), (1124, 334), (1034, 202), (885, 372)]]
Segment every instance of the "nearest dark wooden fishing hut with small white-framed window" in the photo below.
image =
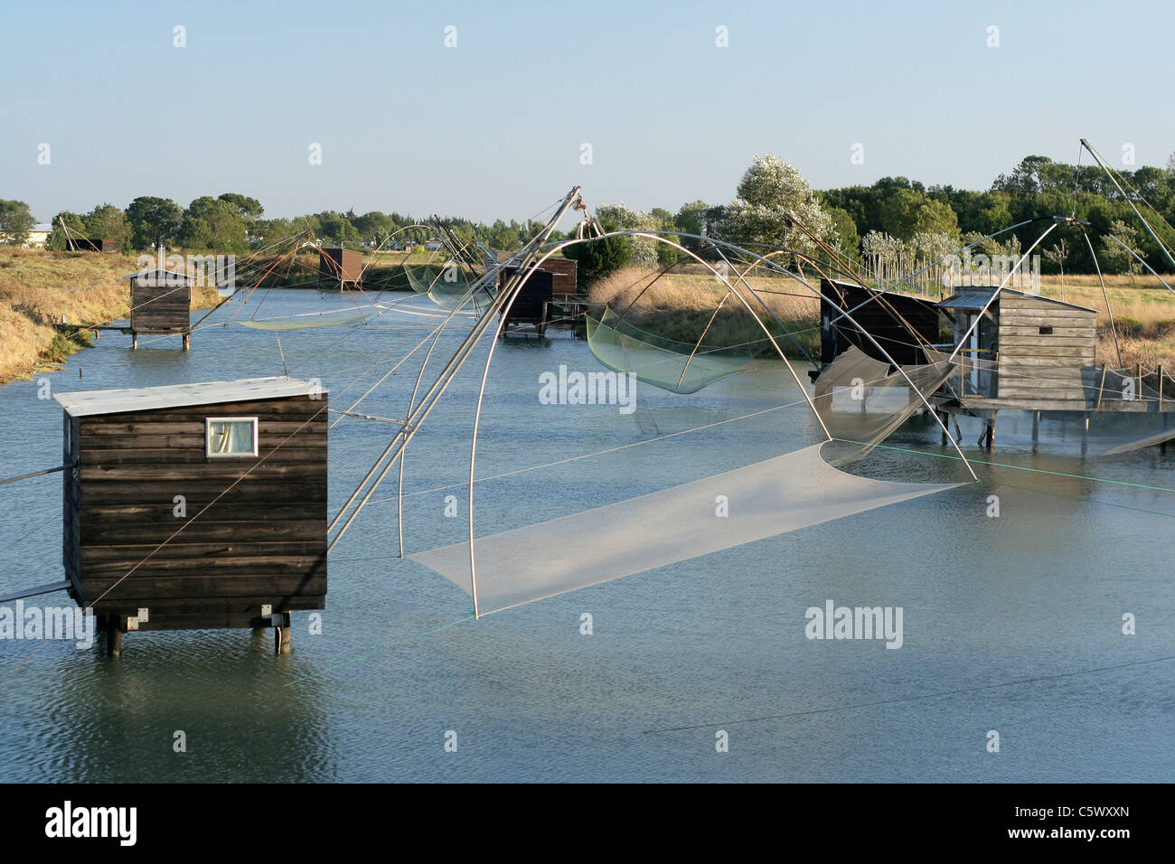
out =
[(286, 377), (65, 393), (69, 594), (135, 630), (274, 627), (327, 596), (328, 394)]

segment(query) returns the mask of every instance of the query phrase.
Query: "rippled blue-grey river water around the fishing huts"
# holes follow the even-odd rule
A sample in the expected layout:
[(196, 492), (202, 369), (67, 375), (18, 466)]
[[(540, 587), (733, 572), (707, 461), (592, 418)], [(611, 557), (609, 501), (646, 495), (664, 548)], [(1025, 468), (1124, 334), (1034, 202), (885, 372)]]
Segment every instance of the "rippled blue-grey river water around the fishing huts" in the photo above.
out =
[[(349, 303), (273, 292), (240, 316)], [(416, 297), (404, 307), (435, 312)], [(347, 408), (435, 323), (389, 313), (352, 330), (284, 333), (283, 367), (273, 333), (216, 323), (230, 312), (194, 334), (190, 353), (153, 337), (132, 353), (128, 336), (109, 333), (46, 377), (70, 391), (288, 368), (322, 379), (331, 406)], [(404, 416), (419, 355), (357, 410)], [(478, 475), (562, 463), (479, 484), (479, 533), (820, 438), (777, 364), (691, 397), (642, 387), (638, 410), (623, 415), (539, 406), (538, 375), (560, 363), (598, 369), (565, 333), (497, 349)], [(462, 373), (409, 449), (405, 490), (421, 493), (405, 501), (409, 552), (466, 530), (465, 491), (436, 488), (468, 476), (479, 375), (479, 363)], [(0, 477), (60, 463), (61, 409), (38, 398), (35, 381), (0, 387)], [(964, 431), (968, 442), (979, 435)], [(391, 433), (349, 417), (334, 427), (331, 507)], [(100, 644), (33, 654), (35, 644), (0, 642), (0, 779), (1171, 781), (1175, 494), (1127, 484), (1175, 488), (1175, 448), (1082, 460), (1072, 433), (1046, 427), (1035, 454), (1023, 424), (1001, 418), (1000, 433), (994, 454), (968, 455), (1054, 474), (976, 466), (979, 484), (476, 622), (465, 595), (400, 560), (395, 501), (382, 501), (395, 494), (392, 474), (331, 555), (323, 634), (295, 614), (287, 656), (273, 656), (270, 631), (249, 630), (130, 634), (113, 659)], [(925, 418), (889, 443), (935, 456), (879, 450), (853, 470), (962, 480)], [(450, 494), (458, 518), (443, 515)], [(985, 514), (989, 495), (999, 518)], [(60, 520), (59, 475), (0, 487), (0, 592), (62, 578)], [(827, 600), (901, 607), (904, 645), (807, 639), (805, 610)], [(590, 636), (579, 632), (584, 612)], [(1137, 635), (1122, 635), (1124, 612)], [(725, 754), (714, 749), (719, 729), (730, 735)], [(187, 752), (173, 751), (176, 730)], [(444, 749), (449, 730), (456, 752)], [(985, 748), (988, 730), (1000, 734), (999, 754)]]

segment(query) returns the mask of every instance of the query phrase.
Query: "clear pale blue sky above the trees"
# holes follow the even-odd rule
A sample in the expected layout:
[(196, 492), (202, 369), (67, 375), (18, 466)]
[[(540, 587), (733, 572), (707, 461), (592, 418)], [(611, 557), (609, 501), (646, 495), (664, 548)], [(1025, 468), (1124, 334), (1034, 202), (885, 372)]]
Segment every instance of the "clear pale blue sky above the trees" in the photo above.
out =
[(718, 203), (765, 152), (817, 188), (983, 189), (1028, 154), (1074, 161), (1082, 136), (1166, 165), (1173, 25), (1169, 0), (5, 2), (0, 197), (39, 221), (223, 192), (271, 216), (491, 220), (573, 183)]

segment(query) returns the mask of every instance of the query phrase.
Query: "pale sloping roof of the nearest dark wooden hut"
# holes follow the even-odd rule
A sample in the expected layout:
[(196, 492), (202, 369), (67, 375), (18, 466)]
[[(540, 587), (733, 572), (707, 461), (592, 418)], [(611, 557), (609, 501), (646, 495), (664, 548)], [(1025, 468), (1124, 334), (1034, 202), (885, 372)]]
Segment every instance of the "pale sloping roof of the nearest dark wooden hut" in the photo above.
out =
[[(153, 411), (160, 408), (251, 402), (260, 398), (308, 396), (315, 384), (297, 379), (268, 377), (240, 381), (206, 381), (197, 384), (139, 387), (125, 390), (59, 393), (54, 398), (74, 417), (123, 411)], [(325, 397), (325, 391), (317, 390)]]

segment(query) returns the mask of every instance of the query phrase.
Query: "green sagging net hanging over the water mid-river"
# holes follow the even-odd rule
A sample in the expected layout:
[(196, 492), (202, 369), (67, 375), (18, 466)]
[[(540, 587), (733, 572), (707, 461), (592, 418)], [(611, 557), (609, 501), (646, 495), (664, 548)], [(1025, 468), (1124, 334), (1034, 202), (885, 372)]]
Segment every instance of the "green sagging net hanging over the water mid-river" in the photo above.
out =
[(596, 360), (670, 393), (697, 393), (751, 363), (746, 347), (699, 347), (665, 339), (634, 327), (606, 306), (598, 319), (591, 314), (585, 317), (588, 346)]

